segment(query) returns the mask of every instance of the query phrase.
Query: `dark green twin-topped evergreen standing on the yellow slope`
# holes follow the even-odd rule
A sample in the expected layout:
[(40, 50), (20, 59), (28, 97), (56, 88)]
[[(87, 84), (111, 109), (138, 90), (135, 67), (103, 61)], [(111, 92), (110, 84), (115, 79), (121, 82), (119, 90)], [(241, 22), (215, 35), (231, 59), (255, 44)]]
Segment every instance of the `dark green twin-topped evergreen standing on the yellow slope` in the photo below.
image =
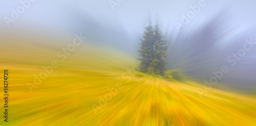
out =
[(145, 28), (143, 39), (140, 43), (140, 71), (149, 74), (164, 75), (166, 68), (167, 41), (163, 40), (159, 24), (153, 28), (152, 23)]

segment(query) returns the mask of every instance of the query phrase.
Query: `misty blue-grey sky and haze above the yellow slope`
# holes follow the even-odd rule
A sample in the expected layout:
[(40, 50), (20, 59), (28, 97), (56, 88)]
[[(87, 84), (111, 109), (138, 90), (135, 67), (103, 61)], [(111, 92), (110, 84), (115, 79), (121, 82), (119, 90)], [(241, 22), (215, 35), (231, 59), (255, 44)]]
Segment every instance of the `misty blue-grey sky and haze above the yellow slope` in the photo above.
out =
[(243, 48), (245, 39), (256, 41), (256, 1), (201, 1), (205, 6), (177, 30), (175, 22), (181, 23), (182, 14), (187, 15), (190, 6), (199, 2), (124, 0), (113, 10), (109, 0), (37, 0), (7, 27), (4, 17), (11, 18), (12, 9), (22, 4), (2, 0), (0, 28), (2, 33), (20, 32), (32, 37), (82, 32), (95, 44), (136, 57), (139, 39), (151, 18), (153, 23), (159, 22), (169, 42), (170, 68), (184, 69), (191, 77), (203, 80), (227, 65), (230, 71), (220, 82), (255, 85), (256, 45), (234, 66), (227, 58)]

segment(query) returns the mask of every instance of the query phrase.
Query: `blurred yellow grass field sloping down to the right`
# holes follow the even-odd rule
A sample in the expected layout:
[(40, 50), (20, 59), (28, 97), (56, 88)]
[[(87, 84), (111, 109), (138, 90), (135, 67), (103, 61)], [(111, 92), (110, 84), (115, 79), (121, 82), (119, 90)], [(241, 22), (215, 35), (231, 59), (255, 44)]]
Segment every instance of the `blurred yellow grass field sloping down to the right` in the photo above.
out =
[[(202, 84), (138, 73), (135, 58), (87, 42), (61, 61), (56, 54), (68, 42), (2, 41), (9, 117), (5, 122), (2, 83), (0, 125), (256, 125), (254, 95), (213, 88), (200, 97)], [(58, 67), (35, 85), (34, 74), (52, 61)]]

